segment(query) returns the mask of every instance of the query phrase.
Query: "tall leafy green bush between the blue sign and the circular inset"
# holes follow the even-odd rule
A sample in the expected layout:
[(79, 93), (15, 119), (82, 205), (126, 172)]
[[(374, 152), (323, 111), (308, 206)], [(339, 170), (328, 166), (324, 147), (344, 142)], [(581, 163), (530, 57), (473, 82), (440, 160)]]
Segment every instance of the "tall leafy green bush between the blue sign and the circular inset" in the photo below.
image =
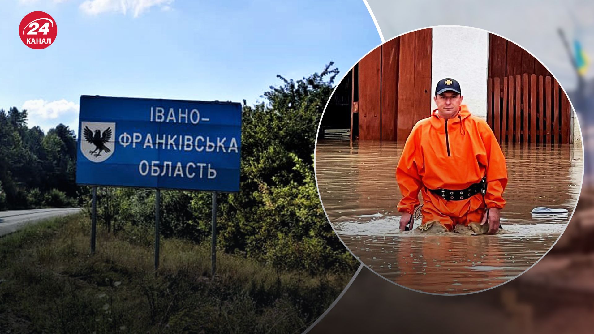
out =
[[(338, 71), (331, 63), (244, 106), (241, 185), (220, 201), (219, 244), (229, 252), (311, 273), (352, 270), (356, 261), (327, 222), (315, 185), (315, 134)], [(201, 213), (200, 216), (204, 216)]]

